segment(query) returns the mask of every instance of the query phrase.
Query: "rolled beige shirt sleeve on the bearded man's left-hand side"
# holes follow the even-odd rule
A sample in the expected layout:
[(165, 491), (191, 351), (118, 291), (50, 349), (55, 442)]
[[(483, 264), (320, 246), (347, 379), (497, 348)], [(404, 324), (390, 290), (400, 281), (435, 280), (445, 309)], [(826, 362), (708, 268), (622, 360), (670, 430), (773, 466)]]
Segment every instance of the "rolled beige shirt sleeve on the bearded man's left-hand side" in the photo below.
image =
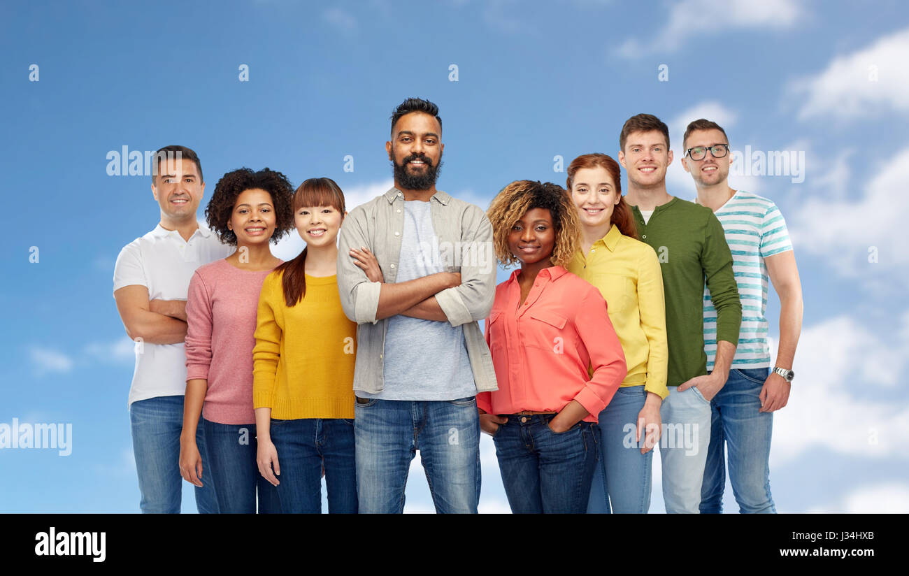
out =
[(369, 282), (366, 273), (350, 257), (351, 248), (373, 247), (365, 234), (365, 210), (358, 206), (347, 214), (338, 234), (337, 280), (341, 307), (351, 321), (376, 323), (375, 314), (379, 308), (381, 283)]

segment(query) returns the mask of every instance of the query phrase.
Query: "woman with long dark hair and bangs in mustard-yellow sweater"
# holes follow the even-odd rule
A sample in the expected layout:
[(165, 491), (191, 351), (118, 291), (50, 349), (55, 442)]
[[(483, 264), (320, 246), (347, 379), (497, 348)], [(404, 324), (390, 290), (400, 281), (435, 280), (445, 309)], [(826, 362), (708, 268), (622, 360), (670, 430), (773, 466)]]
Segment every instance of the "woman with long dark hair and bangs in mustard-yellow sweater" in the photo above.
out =
[(356, 324), (338, 296), (336, 238), (344, 194), (330, 178), (294, 193), (303, 253), (265, 278), (253, 351), (253, 404), (265, 480), (282, 512), (356, 513), (354, 361)]

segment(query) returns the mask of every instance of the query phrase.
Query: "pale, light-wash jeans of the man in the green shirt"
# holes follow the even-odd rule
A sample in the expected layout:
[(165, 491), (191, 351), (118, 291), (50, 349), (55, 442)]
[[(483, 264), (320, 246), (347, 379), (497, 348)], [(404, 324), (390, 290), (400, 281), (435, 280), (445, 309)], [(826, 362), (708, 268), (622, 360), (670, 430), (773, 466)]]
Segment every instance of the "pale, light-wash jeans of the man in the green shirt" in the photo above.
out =
[(710, 443), (710, 402), (694, 386), (679, 392), (669, 386), (669, 396), (660, 407), (663, 433), (663, 500), (666, 513), (697, 514), (701, 484)]

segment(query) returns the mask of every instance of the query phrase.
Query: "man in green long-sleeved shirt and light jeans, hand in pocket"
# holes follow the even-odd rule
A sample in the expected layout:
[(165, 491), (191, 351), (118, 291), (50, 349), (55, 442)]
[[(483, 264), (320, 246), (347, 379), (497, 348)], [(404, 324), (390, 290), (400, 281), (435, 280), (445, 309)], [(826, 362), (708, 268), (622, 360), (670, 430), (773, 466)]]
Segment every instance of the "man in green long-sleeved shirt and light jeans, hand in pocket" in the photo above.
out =
[[(713, 211), (666, 192), (666, 168), (673, 161), (666, 124), (652, 114), (632, 116), (622, 127), (619, 148), (628, 174), (625, 201), (663, 272), (669, 343), (669, 397), (660, 409), (663, 498), (667, 512), (696, 514), (710, 442), (710, 400), (729, 375), (742, 322), (733, 257)], [(704, 281), (717, 314), (716, 360), (709, 374)]]

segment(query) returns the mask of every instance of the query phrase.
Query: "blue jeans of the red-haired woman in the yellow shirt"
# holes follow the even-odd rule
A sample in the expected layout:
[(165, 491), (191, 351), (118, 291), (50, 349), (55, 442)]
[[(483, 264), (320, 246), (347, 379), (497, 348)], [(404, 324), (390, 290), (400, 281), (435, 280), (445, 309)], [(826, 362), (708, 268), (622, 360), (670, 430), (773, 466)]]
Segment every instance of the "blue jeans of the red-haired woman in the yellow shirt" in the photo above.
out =
[(654, 451), (641, 453), (644, 438), (634, 442), (637, 414), (644, 408), (644, 384), (623, 386), (598, 417), (600, 465), (591, 483), (588, 514), (646, 514)]

